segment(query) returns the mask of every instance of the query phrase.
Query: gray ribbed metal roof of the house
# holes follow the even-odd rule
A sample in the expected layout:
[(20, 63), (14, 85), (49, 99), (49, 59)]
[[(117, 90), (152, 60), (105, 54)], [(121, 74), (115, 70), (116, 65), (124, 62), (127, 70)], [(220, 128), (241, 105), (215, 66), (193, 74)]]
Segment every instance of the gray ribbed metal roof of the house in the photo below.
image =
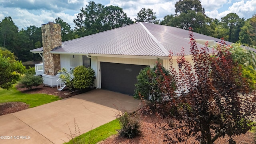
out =
[[(196, 39), (221, 42), (218, 38), (195, 32), (194, 37)], [(188, 30), (138, 22), (62, 42), (62, 46), (52, 50), (52, 53), (168, 56), (169, 51), (176, 55), (184, 47), (185, 54), (189, 55), (189, 42)], [(231, 42), (226, 43), (232, 44)], [(203, 47), (203, 45), (198, 44), (198, 47)], [(31, 52), (35, 53), (41, 51), (42, 48), (31, 50)]]

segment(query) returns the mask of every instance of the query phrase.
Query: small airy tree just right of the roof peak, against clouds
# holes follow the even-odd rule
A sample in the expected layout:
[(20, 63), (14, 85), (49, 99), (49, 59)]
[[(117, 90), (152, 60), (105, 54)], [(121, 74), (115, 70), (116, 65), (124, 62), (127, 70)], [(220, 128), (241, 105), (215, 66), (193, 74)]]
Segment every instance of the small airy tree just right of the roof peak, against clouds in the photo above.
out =
[(153, 9), (142, 8), (137, 13), (137, 18), (135, 18), (136, 22), (148, 22), (153, 24), (158, 24), (160, 20), (156, 19), (156, 13), (153, 12)]

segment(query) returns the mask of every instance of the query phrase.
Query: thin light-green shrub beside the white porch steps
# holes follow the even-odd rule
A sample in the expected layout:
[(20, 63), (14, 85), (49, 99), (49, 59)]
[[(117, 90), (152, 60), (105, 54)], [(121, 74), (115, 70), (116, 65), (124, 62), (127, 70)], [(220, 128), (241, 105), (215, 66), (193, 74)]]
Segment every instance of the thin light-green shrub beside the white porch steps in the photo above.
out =
[(59, 70), (61, 74), (59, 75), (60, 80), (66, 84), (66, 87), (71, 91), (75, 91), (74, 81), (73, 81), (73, 74), (72, 71), (68, 72), (66, 68), (62, 68)]

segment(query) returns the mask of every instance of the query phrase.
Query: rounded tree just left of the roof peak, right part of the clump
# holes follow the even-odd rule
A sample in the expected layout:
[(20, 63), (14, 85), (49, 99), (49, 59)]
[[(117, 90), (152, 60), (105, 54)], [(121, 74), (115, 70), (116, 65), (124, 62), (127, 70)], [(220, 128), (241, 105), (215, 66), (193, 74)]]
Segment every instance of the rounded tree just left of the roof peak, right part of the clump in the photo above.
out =
[(103, 10), (103, 17), (104, 25), (110, 26), (111, 29), (134, 23), (118, 6), (106, 6)]

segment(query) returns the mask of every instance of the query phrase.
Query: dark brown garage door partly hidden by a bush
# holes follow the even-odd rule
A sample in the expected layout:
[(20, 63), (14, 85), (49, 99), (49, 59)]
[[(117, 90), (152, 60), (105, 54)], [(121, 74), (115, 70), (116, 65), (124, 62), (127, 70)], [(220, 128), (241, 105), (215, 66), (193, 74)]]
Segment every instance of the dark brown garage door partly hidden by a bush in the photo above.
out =
[(100, 62), (101, 88), (123, 94), (134, 95), (134, 84), (143, 65)]

